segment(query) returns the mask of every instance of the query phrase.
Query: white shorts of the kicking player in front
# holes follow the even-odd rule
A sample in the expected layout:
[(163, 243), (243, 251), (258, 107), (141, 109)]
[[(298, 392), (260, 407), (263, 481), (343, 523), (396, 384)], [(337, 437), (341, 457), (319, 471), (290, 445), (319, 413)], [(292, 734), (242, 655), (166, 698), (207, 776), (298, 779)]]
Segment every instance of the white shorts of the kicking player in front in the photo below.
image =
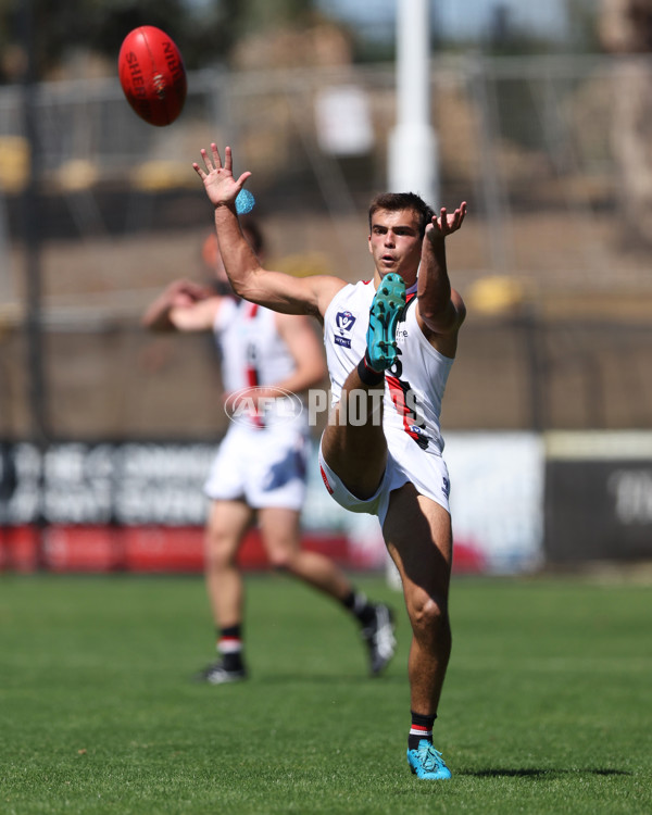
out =
[(425, 453), (402, 430), (386, 428), (386, 435), (388, 453), (385, 475), (376, 493), (366, 500), (349, 492), (339, 476), (326, 464), (319, 444), (319, 473), (330, 496), (344, 510), (377, 515), (383, 526), (389, 506), (390, 492), (410, 481), (421, 496), (430, 498), (450, 513), (450, 481), (443, 459), (440, 455)]

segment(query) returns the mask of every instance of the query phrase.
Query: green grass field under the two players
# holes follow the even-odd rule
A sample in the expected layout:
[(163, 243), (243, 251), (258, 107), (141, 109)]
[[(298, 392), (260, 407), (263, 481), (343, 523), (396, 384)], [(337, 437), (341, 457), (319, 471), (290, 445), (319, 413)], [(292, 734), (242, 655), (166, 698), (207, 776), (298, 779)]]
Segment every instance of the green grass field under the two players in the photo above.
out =
[(350, 619), (283, 577), (248, 580), (252, 678), (204, 687), (199, 577), (0, 577), (0, 813), (650, 813), (652, 590), (453, 582), (436, 745), (405, 762), (409, 625), (381, 679)]

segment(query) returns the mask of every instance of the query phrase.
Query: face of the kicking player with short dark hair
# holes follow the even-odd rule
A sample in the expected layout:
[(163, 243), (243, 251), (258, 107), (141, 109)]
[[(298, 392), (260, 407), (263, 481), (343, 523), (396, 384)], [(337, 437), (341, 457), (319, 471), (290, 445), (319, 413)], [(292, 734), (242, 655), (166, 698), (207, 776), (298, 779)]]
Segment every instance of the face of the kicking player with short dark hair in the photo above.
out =
[(416, 280), (422, 238), (414, 210), (377, 210), (372, 216), (369, 252), (380, 277), (394, 272), (411, 286)]

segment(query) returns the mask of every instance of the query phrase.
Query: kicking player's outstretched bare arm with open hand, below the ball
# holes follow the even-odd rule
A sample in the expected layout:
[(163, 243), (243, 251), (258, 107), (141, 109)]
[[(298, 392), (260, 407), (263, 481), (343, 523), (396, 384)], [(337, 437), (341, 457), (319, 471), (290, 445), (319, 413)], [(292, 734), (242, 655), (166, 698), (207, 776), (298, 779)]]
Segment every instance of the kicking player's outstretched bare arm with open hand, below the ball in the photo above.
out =
[(215, 229), (226, 274), (237, 294), (285, 314), (313, 314), (322, 317), (343, 280), (325, 275), (297, 278), (264, 269), (240, 229), (236, 198), (251, 176), (233, 174), (230, 147), (225, 148), (224, 164), (215, 145), (211, 154), (201, 150), (203, 167), (192, 164), (202, 179), (209, 200), (215, 208)]

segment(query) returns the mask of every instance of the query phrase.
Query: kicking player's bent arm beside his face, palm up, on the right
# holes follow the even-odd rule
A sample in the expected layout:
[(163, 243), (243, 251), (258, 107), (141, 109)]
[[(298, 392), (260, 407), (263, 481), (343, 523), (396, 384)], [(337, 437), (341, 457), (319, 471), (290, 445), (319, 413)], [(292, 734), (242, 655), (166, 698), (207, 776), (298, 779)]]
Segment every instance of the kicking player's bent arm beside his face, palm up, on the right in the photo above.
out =
[(466, 202), (449, 215), (444, 208), (426, 227), (418, 274), (418, 316), (426, 334), (455, 334), (465, 316), (464, 302), (451, 288), (444, 239), (456, 231), (466, 215)]

